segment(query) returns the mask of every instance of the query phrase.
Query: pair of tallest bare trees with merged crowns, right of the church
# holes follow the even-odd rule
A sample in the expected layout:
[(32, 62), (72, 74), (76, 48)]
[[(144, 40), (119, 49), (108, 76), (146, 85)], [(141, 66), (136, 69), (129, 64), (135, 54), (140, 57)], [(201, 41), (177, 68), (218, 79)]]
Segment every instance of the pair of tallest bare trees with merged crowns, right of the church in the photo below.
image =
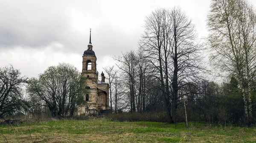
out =
[(204, 69), (196, 37), (195, 26), (180, 8), (157, 9), (146, 17), (140, 48), (157, 73), (168, 122), (177, 121), (180, 81), (193, 81)]

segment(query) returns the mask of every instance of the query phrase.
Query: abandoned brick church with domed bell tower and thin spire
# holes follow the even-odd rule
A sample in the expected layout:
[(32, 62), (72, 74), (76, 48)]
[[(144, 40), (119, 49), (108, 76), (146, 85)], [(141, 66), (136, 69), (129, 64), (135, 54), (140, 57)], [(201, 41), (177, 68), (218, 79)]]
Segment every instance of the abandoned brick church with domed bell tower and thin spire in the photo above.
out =
[(103, 72), (101, 73), (101, 80), (98, 79), (99, 72), (97, 71), (97, 58), (91, 43), (91, 31), (89, 45), (82, 57), (81, 75), (87, 79), (86, 88), (89, 90), (89, 93), (84, 95), (86, 104), (83, 107), (79, 107), (78, 115), (90, 116), (107, 113), (109, 111), (109, 84), (105, 82)]

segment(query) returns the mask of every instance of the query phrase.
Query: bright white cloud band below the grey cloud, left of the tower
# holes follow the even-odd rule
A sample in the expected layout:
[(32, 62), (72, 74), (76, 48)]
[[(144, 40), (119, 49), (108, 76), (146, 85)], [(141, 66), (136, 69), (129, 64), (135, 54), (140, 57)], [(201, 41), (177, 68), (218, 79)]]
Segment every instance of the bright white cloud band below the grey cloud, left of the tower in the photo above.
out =
[(13, 49), (0, 49), (0, 67), (12, 64), (20, 69), (24, 76), (36, 77), (49, 66), (57, 65), (60, 62), (73, 64), (80, 71), (81, 56), (76, 53), (54, 52), (61, 50), (62, 45), (53, 43), (44, 49), (32, 49), (16, 47)]

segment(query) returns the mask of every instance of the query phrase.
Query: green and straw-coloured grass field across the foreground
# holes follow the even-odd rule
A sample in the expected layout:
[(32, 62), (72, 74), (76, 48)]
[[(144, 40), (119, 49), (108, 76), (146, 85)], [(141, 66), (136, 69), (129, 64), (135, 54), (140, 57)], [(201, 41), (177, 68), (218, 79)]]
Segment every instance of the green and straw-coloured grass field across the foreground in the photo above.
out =
[[(193, 124), (193, 126), (191, 126)], [(0, 126), (0, 143), (256, 143), (256, 128), (205, 123), (113, 122), (108, 119), (44, 121)], [(7, 141), (6, 141), (7, 140)]]

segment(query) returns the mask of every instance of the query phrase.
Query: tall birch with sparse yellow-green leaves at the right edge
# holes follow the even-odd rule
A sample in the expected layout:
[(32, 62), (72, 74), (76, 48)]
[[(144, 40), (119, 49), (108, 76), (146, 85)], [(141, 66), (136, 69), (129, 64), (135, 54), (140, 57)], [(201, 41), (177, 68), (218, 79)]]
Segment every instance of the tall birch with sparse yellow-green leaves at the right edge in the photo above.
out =
[(211, 61), (214, 67), (235, 74), (239, 80), (249, 125), (256, 72), (256, 11), (247, 0), (212, 0), (210, 8), (207, 27)]

